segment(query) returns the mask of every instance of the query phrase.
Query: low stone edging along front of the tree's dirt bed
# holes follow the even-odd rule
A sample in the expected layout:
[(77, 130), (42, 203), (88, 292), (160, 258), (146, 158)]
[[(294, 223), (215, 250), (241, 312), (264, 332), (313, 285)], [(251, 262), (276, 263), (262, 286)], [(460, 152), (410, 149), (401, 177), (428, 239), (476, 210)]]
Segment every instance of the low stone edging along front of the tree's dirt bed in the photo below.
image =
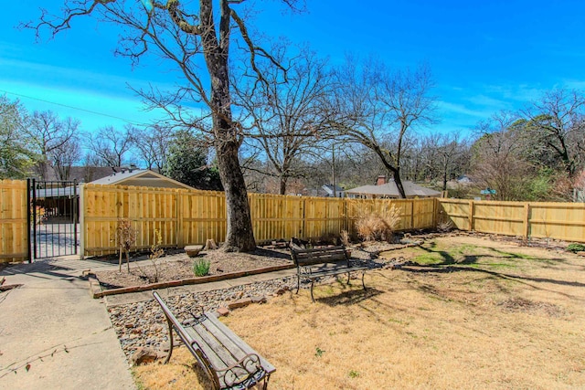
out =
[(261, 273), (268, 273), (274, 271), (280, 271), (284, 269), (294, 269), (296, 266), (294, 264), (285, 264), (282, 266), (274, 266), (269, 267), (266, 269), (251, 269), (246, 271), (239, 271), (239, 272), (230, 272), (223, 275), (216, 275), (216, 276), (208, 276), (208, 277), (201, 277), (201, 278), (190, 278), (190, 279), (180, 279), (180, 280), (171, 280), (171, 281), (162, 281), (158, 283), (151, 283), (145, 284), (142, 286), (132, 286), (132, 287), (122, 287), (120, 289), (110, 289), (110, 290), (101, 290), (100, 282), (94, 276), (89, 276), (90, 280), (90, 294), (91, 297), (94, 299), (102, 298), (108, 295), (117, 295), (117, 294), (127, 294), (130, 292), (141, 292), (141, 291), (149, 291), (149, 290), (157, 290), (157, 289), (166, 289), (169, 287), (177, 287), (177, 286), (186, 286), (189, 284), (203, 284), (209, 283), (212, 281), (220, 281), (220, 280), (227, 280), (227, 279), (236, 279), (250, 275), (258, 275)]

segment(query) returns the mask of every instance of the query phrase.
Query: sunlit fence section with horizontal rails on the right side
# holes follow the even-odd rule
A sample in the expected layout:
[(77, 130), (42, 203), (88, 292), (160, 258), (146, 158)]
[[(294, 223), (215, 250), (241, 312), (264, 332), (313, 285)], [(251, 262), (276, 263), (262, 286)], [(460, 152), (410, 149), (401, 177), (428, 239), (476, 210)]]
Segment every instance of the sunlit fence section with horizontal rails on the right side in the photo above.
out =
[(505, 236), (585, 242), (585, 203), (438, 199), (438, 223)]

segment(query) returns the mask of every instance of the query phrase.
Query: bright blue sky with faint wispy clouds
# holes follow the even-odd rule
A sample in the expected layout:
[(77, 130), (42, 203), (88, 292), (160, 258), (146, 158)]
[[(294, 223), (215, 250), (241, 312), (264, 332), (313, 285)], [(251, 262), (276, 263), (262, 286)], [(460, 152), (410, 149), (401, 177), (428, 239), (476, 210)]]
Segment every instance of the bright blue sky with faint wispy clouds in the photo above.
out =
[[(133, 69), (126, 58), (114, 58), (117, 32), (95, 19), (79, 19), (41, 43), (32, 31), (15, 28), (37, 18), (39, 6), (56, 11), (60, 1), (47, 3), (3, 5), (0, 94), (9, 92), (30, 111), (78, 118), (86, 131), (154, 118), (127, 85), (165, 86), (173, 76), (154, 60)], [(582, 1), (322, 0), (307, 1), (303, 15), (282, 15), (275, 1), (257, 3), (265, 9), (256, 16), (260, 31), (308, 43), (332, 64), (346, 53), (375, 55), (397, 68), (428, 63), (440, 120), (432, 130), (469, 132), (545, 90), (585, 89)]]

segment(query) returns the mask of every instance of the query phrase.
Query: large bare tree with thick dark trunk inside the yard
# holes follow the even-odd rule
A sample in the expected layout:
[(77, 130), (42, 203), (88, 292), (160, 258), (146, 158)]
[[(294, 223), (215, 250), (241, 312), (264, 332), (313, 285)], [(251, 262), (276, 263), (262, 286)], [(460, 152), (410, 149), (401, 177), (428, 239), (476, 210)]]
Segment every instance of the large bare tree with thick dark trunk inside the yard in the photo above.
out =
[[(229, 79), (230, 43), (237, 39), (247, 54), (250, 72), (263, 80), (256, 67), (258, 58), (271, 58), (249, 34), (246, 17), (239, 7), (246, 0), (199, 0), (181, 5), (179, 0), (136, 1), (69, 0), (64, 13), (55, 18), (43, 12), (40, 23), (29, 24), (37, 31), (48, 27), (52, 34), (68, 29), (73, 18), (96, 16), (120, 26), (123, 34), (117, 52), (138, 62), (146, 53), (164, 58), (183, 76), (176, 90), (142, 91), (151, 107), (163, 108), (171, 119), (187, 129), (199, 127), (185, 104), (203, 102), (209, 109), (211, 125), (207, 136), (216, 149), (221, 182), (227, 201), (228, 229), (224, 248), (247, 251), (256, 247), (251, 227), (250, 205), (239, 166), (238, 152), (243, 142), (242, 126), (233, 120)], [(295, 0), (282, 0), (288, 7)], [(278, 66), (276, 61), (272, 61)], [(209, 81), (207, 81), (207, 79)], [(206, 87), (207, 82), (210, 84)], [(200, 127), (203, 128), (203, 127)]]

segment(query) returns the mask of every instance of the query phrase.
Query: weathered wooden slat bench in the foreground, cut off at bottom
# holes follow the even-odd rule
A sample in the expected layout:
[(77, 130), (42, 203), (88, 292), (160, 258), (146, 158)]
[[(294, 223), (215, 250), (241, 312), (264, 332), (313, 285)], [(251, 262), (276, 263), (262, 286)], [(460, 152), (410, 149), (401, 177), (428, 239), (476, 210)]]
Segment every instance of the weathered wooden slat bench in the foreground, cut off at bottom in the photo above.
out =
[(154, 292), (154, 299), (165, 312), (169, 333), (169, 352), (165, 364), (173, 353), (173, 330), (195, 356), (197, 363), (207, 374), (213, 388), (248, 389), (263, 382), (268, 386), (270, 375), (276, 371), (250, 345), (218, 320), (215, 314), (202, 313), (181, 323)]

